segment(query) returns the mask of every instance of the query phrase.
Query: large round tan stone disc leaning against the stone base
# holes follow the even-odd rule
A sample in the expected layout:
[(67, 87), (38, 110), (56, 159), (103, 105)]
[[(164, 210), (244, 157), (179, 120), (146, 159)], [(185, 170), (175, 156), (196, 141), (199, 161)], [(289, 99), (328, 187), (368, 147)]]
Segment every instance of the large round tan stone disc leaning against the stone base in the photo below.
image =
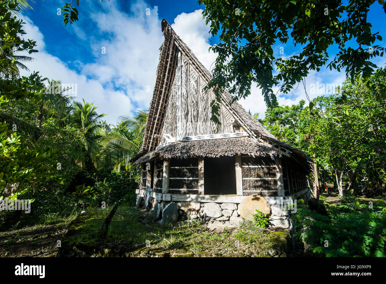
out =
[(247, 196), (239, 204), (240, 216), (245, 220), (253, 222), (256, 209), (266, 214), (266, 216), (271, 213), (268, 201), (259, 194)]

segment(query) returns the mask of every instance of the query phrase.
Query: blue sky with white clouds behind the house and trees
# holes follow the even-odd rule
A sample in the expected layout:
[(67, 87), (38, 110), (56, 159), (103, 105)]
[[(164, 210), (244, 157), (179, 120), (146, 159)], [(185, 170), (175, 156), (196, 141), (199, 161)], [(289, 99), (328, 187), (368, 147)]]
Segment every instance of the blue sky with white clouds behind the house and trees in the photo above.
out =
[[(217, 43), (210, 37), (209, 27), (202, 19), (201, 10), (192, 1), (92, 1), (80, 0), (79, 21), (64, 27), (63, 16), (57, 15), (63, 0), (36, 0), (34, 10), (22, 15), (27, 38), (37, 41), (39, 53), (27, 63), (30, 71), (63, 83), (72, 84), (76, 100), (85, 99), (99, 105), (99, 112), (108, 114), (106, 120), (115, 124), (117, 117), (148, 109), (154, 88), (159, 46), (163, 41), (161, 20), (168, 20), (173, 29), (192, 49), (204, 66), (210, 68), (216, 55), (208, 53), (210, 45)], [(150, 9), (150, 15), (146, 15)], [(386, 46), (386, 14), (381, 5), (374, 3), (368, 15), (372, 31), (379, 31)], [(298, 52), (291, 43), (277, 44), (274, 52), (282, 57)], [(105, 53), (102, 53), (103, 48)], [(336, 53), (336, 47), (328, 49)], [(385, 58), (385, 57), (384, 57)], [(385, 60), (374, 62), (384, 66)], [(26, 74), (25, 74), (26, 75)], [(327, 93), (328, 88), (343, 82), (345, 75), (322, 68), (306, 78), (310, 97)], [(310, 94), (313, 86), (321, 84), (317, 94)], [(264, 116), (266, 109), (261, 91), (252, 88), (252, 95), (241, 104), (245, 109)], [(279, 94), (280, 104), (296, 104), (305, 99), (305, 90), (299, 86), (290, 94)]]

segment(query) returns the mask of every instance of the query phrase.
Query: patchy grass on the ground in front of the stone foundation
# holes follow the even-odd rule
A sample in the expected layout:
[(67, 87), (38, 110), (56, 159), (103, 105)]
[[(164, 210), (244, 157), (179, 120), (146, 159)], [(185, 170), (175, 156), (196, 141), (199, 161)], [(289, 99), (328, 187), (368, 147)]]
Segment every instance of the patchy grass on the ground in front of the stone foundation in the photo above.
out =
[[(98, 231), (111, 208), (88, 210), (85, 221), (74, 229), (74, 242), (98, 242)], [(198, 221), (159, 224), (147, 222), (147, 213), (120, 206), (111, 221), (102, 247), (124, 247), (135, 253), (151, 249), (169, 254), (179, 252), (212, 256), (267, 256), (274, 246), (286, 247), (287, 233), (272, 232), (246, 224), (236, 229), (213, 233)]]

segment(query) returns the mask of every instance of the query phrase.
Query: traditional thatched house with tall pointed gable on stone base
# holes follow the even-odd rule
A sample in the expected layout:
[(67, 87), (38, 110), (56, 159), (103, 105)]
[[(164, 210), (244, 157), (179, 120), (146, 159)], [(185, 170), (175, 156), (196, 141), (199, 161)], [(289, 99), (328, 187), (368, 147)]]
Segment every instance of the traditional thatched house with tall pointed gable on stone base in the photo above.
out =
[[(308, 192), (309, 158), (278, 141), (237, 102), (229, 105), (229, 92), (222, 94), (221, 125), (210, 121), (214, 94), (203, 88), (211, 74), (166, 20), (161, 27), (164, 43), (143, 145), (132, 159), (142, 165), (138, 205), (146, 197), (157, 217), (168, 203), (180, 202), (190, 219), (237, 223), (237, 204), (247, 196), (274, 204), (276, 197)], [(222, 213), (225, 207), (232, 215)]]

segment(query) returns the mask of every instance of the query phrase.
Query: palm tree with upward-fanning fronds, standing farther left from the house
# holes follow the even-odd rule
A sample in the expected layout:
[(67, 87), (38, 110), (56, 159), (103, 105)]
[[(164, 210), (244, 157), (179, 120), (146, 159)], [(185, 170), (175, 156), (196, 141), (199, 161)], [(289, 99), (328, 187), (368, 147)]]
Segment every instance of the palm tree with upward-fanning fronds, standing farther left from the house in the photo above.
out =
[[(101, 118), (106, 114), (98, 114), (98, 105), (85, 102), (74, 102), (74, 109), (71, 114), (71, 121), (83, 133), (83, 145), (85, 146), (91, 161), (97, 166), (97, 155), (100, 152), (96, 141), (105, 134), (101, 124)], [(85, 161), (77, 161), (80, 167), (84, 167)]]

